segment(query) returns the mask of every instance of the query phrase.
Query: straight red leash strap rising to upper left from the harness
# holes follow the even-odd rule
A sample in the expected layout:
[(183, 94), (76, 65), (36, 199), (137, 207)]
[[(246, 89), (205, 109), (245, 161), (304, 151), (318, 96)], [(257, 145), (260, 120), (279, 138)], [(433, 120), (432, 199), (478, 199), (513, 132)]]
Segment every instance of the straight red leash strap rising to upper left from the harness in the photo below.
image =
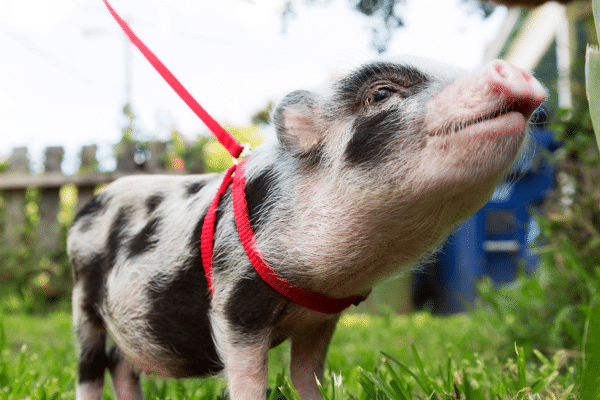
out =
[(154, 53), (146, 47), (144, 43), (133, 33), (129, 25), (116, 13), (107, 0), (103, 0), (104, 4), (110, 11), (113, 18), (121, 26), (131, 43), (142, 52), (144, 57), (152, 64), (154, 69), (163, 77), (165, 81), (175, 90), (181, 99), (192, 109), (192, 111), (206, 124), (208, 129), (215, 134), (219, 143), (221, 143), (231, 154), (233, 158), (238, 158), (244, 148), (236, 138), (231, 136), (213, 117), (211, 117), (200, 104), (192, 97), (192, 95), (183, 87), (183, 85), (175, 78), (175, 76), (165, 67), (165, 65), (154, 55)]

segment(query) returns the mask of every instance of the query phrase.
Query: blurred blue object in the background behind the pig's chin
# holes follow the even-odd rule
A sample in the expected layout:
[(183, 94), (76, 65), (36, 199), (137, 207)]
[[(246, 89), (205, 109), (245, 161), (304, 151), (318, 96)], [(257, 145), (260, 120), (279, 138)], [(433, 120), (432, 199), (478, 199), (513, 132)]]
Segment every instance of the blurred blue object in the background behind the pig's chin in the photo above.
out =
[(522, 267), (539, 264), (531, 244), (539, 226), (531, 209), (554, 188), (554, 168), (542, 158), (558, 144), (551, 131), (536, 129), (525, 156), (510, 170), (490, 201), (460, 225), (432, 263), (414, 274), (413, 304), (434, 312), (453, 313), (473, 303), (477, 280), (487, 275), (497, 285), (513, 281)]

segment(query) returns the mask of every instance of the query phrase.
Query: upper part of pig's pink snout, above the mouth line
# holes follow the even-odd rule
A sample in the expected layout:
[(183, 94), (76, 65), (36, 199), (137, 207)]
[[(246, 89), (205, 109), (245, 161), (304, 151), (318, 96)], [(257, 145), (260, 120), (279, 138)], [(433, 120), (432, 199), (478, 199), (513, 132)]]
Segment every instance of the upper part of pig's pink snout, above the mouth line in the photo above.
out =
[(478, 73), (455, 81), (435, 97), (426, 117), (428, 132), (455, 132), (511, 113), (521, 114), (510, 122), (524, 132), (531, 114), (545, 98), (544, 87), (531, 74), (495, 60)]

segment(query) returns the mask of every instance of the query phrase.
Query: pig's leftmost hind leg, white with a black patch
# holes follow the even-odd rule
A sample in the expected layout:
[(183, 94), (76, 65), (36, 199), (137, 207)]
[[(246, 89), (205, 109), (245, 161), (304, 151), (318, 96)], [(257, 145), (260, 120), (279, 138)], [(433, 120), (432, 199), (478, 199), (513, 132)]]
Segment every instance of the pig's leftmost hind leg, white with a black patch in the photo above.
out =
[(104, 389), (106, 328), (100, 317), (86, 306), (81, 284), (73, 289), (73, 322), (79, 342), (77, 400), (100, 400)]

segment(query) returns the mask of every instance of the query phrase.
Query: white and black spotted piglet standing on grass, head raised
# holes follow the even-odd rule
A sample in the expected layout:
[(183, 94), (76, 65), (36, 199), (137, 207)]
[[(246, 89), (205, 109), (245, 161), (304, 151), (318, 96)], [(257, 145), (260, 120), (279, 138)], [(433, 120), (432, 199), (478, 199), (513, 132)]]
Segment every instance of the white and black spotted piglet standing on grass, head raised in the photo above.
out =
[[(332, 298), (366, 294), (411, 268), (482, 207), (545, 98), (530, 74), (493, 61), (467, 74), (429, 61), (374, 62), (275, 109), (277, 139), (247, 164), (256, 240), (288, 281)], [(264, 399), (267, 355), (291, 339), (292, 382), (322, 399), (338, 314), (271, 289), (236, 232), (231, 186), (214, 235), (211, 296), (200, 253), (222, 174), (131, 176), (107, 186), (68, 237), (80, 344), (77, 399), (142, 399), (139, 373), (225, 371), (232, 399)], [(115, 343), (106, 351), (106, 337)]]

